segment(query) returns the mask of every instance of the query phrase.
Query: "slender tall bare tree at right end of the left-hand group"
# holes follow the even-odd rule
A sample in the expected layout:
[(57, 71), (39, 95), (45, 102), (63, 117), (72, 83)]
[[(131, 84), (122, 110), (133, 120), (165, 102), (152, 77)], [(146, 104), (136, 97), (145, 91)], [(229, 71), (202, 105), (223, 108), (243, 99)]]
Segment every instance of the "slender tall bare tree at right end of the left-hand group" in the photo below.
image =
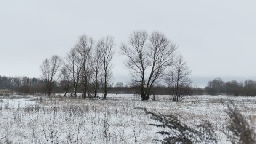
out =
[(106, 37), (102, 39), (103, 44), (101, 48), (101, 62), (103, 66), (103, 72), (102, 72), (102, 86), (104, 88), (104, 97), (103, 99), (106, 99), (107, 97), (107, 88), (110, 85), (111, 79), (112, 79), (112, 65), (110, 64), (113, 56), (114, 51), (113, 47), (115, 45), (114, 43), (114, 37)]

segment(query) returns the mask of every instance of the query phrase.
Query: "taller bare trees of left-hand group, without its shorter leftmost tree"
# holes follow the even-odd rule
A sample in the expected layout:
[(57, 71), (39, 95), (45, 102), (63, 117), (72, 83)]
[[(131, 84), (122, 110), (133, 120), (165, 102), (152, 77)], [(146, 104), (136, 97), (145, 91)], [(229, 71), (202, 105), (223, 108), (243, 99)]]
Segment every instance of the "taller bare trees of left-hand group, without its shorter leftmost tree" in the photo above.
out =
[(87, 37), (87, 35), (79, 37), (77, 44), (69, 51), (65, 61), (65, 67), (72, 73), (71, 79), (75, 96), (79, 87), (83, 91), (82, 97), (87, 98), (87, 92), (89, 95), (88, 88), (91, 87), (90, 85), (93, 81), (94, 96), (96, 97), (101, 76), (104, 79), (102, 85), (107, 91), (107, 86), (109, 86), (112, 78), (110, 61), (114, 55), (114, 45), (114, 37), (110, 36), (101, 38), (96, 45), (94, 45), (93, 39)]

